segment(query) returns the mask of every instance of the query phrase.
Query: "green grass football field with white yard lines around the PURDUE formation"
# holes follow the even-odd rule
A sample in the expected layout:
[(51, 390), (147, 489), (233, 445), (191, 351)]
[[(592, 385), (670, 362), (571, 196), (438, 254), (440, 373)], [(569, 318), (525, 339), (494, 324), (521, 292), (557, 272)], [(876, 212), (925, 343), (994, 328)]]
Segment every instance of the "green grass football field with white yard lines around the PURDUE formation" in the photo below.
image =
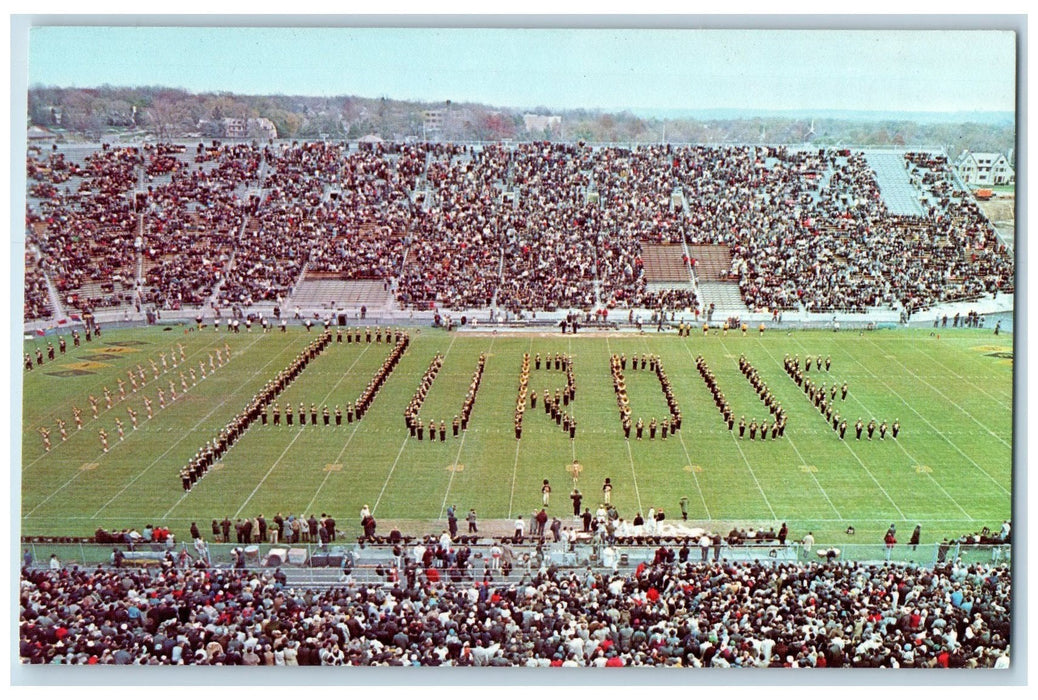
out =
[[(334, 330), (334, 329), (333, 329)], [(876, 331), (774, 331), (763, 338), (702, 331), (675, 333), (446, 333), (410, 328), (412, 343), (360, 422), (325, 427), (253, 424), (222, 461), (186, 492), (180, 469), (208, 439), (241, 411), (266, 381), (290, 365), (318, 331), (230, 334), (188, 326), (105, 331), (31, 372), (24, 372), (21, 470), (22, 534), (89, 535), (99, 527), (142, 528), (164, 523), (187, 538), (192, 520), (268, 518), (280, 511), (336, 516), (339, 528), (359, 531), (357, 513), (371, 506), (380, 522), (439, 528), (456, 504), (462, 516), (475, 508), (481, 519), (514, 518), (540, 507), (541, 483), (553, 486), (549, 513), (572, 513), (568, 494), (572, 463), (577, 485), (594, 511), (605, 478), (614, 485), (612, 503), (621, 516), (664, 509), (680, 517), (688, 499), (689, 519), (715, 528), (786, 521), (791, 536), (814, 531), (819, 542), (841, 542), (853, 526), (863, 541), (878, 541), (891, 522), (902, 532), (923, 524), (924, 542), (957, 537), (987, 526), (998, 529), (1011, 516), (1012, 336), (990, 330), (941, 329)], [(47, 341), (26, 341), (26, 351)], [(209, 370), (217, 348), (229, 347), (222, 367)], [(183, 346), (185, 360), (180, 360)], [(392, 345), (332, 343), (279, 397), (307, 409), (332, 410), (355, 401)], [(421, 416), (447, 425), (445, 441), (418, 441), (404, 424), (404, 409), (434, 354), (444, 355)], [(486, 371), (467, 431), (450, 435), (481, 352)], [(576, 418), (575, 439), (541, 408), (527, 409), (521, 440), (513, 415), (524, 352), (570, 354), (576, 397), (568, 407)], [(166, 354), (163, 373), (160, 353)], [(175, 353), (180, 366), (172, 368)], [(609, 372), (611, 353), (628, 358), (660, 356), (683, 414), (681, 430), (666, 440), (624, 439)], [(848, 420), (840, 440), (803, 392), (783, 370), (786, 354), (831, 356), (831, 369), (810, 376), (831, 385), (847, 382), (837, 409)], [(740, 354), (754, 365), (782, 402), (789, 420), (785, 437), (738, 439), (729, 432), (710, 392), (695, 370), (702, 354), (732, 404), (747, 422), (766, 415), (739, 372)], [(155, 379), (151, 362), (160, 377)], [(199, 360), (209, 376), (200, 376)], [(128, 370), (141, 366), (146, 385), (132, 392)], [(565, 384), (565, 373), (530, 365), (529, 388)], [(196, 373), (191, 384), (188, 368)], [(188, 391), (182, 388), (185, 373)], [(632, 415), (663, 419), (667, 406), (660, 383), (648, 369), (625, 373)], [(126, 382), (120, 399), (117, 380)], [(170, 401), (169, 382), (177, 398)], [(113, 397), (106, 407), (105, 387)], [(160, 408), (157, 389), (166, 394)], [(98, 399), (94, 419), (89, 396)], [(153, 401), (148, 420), (143, 397)], [(82, 409), (77, 430), (73, 406)], [(127, 408), (138, 412), (131, 428)], [(115, 419), (124, 423), (125, 439)], [(899, 420), (892, 439), (853, 439), (853, 423)], [(57, 419), (66, 422), (62, 440)], [(38, 429), (50, 430), (45, 452)], [(102, 451), (99, 431), (109, 435)], [(433, 530), (436, 532), (436, 530)]]

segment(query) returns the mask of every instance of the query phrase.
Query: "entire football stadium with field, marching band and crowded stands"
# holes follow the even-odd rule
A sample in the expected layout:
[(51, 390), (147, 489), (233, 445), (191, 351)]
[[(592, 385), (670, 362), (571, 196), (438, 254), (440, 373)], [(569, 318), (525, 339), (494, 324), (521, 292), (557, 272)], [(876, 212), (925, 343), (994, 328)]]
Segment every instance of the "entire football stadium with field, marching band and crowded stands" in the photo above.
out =
[(944, 149), (30, 141), (25, 196), (23, 664), (1010, 666), (1014, 244)]

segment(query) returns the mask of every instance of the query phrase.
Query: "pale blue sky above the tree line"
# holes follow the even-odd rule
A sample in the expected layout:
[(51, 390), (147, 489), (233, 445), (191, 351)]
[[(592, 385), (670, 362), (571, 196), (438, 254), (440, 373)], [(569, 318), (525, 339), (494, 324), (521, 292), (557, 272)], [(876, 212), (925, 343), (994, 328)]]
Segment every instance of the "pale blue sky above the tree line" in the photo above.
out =
[(34, 27), (28, 80), (519, 108), (1012, 111), (1015, 51), (1011, 32), (980, 30)]

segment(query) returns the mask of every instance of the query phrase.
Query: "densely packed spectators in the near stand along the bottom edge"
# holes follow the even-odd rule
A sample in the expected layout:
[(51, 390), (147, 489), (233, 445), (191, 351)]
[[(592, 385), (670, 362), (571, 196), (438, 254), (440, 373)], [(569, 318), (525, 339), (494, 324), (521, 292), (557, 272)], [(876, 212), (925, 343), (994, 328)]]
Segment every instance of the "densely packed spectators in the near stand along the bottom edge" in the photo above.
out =
[[(663, 547), (666, 549), (666, 547)], [(186, 549), (185, 549), (186, 551)], [(428, 553), (428, 549), (426, 549)], [(1009, 668), (1006, 565), (686, 560), (630, 573), (547, 563), (509, 583), (410, 548), (384, 583), (165, 556), (23, 566), (26, 664)], [(483, 566), (483, 565), (481, 565)], [(449, 572), (454, 572), (448, 575)]]

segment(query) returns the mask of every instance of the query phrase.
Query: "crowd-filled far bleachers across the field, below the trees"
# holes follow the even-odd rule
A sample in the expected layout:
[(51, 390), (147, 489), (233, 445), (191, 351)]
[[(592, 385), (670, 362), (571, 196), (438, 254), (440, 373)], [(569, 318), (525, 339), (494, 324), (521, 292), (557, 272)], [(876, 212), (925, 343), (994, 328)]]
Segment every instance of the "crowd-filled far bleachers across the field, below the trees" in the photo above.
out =
[(384, 280), (405, 308), (694, 311), (691, 281), (647, 284), (643, 246), (666, 244), (727, 246), (754, 312), (1011, 293), (1012, 255), (947, 158), (904, 167), (922, 216), (889, 212), (849, 150), (67, 146), (30, 151), (26, 219), (38, 272), (77, 308), (248, 306), (325, 276)]

